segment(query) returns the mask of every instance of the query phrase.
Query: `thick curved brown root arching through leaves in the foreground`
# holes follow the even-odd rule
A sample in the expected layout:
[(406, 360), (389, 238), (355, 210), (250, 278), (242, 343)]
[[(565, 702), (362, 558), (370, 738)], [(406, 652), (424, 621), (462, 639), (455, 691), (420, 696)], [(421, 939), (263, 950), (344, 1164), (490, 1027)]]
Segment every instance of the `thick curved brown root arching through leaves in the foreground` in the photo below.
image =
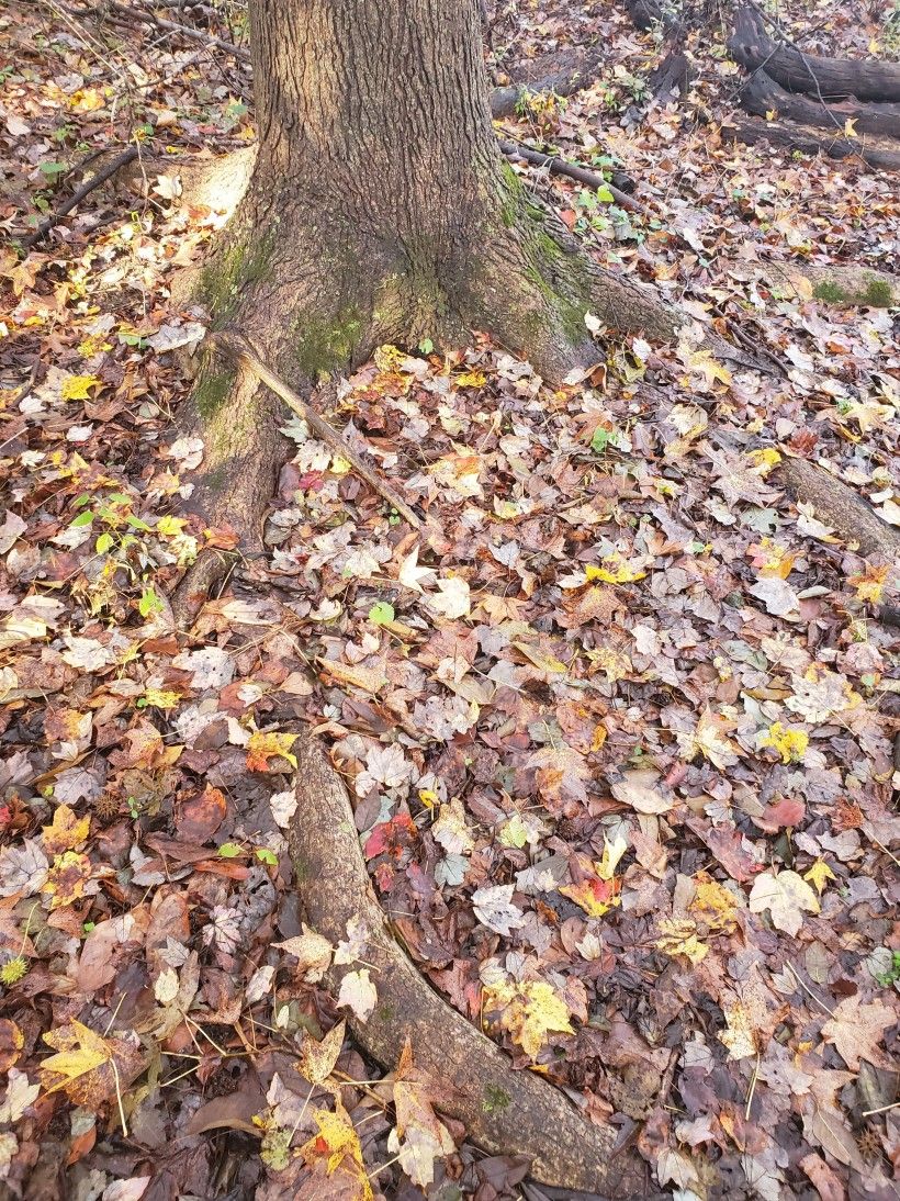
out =
[[(332, 943), (347, 937), (352, 918), (362, 918), (371, 932), (364, 958), (378, 1000), (367, 1021), (349, 1020), (360, 1046), (395, 1068), (409, 1038), (418, 1066), (436, 1082), (437, 1107), (458, 1118), (485, 1151), (528, 1155), (536, 1179), (608, 1197), (644, 1196), (646, 1170), (634, 1154), (616, 1154), (613, 1128), (594, 1125), (535, 1072), (515, 1071), (419, 974), (376, 900), (341, 776), (308, 734), (293, 751), (299, 805), (288, 843), (307, 920)], [(358, 967), (331, 969), (335, 993)]]

